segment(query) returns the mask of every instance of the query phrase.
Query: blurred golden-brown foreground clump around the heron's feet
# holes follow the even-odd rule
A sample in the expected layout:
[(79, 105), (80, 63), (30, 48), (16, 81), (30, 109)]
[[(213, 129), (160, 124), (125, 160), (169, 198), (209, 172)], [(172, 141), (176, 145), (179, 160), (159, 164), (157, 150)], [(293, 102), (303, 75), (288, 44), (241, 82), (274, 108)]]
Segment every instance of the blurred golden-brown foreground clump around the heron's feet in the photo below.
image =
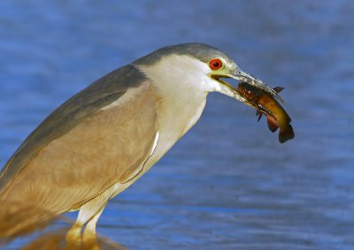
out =
[(27, 246), (21, 246), (21, 249), (127, 249), (99, 235), (97, 235), (96, 242), (89, 245), (82, 242), (74, 242), (69, 245), (65, 240), (65, 236), (70, 226), (58, 229), (58, 227), (55, 228), (52, 226), (55, 221), (72, 223), (63, 216), (52, 216), (51, 213), (42, 211), (35, 206), (24, 206), (23, 204), (15, 203), (0, 206), (0, 248), (9, 245), (14, 239), (19, 239), (34, 231), (42, 230), (38, 237), (27, 243)]

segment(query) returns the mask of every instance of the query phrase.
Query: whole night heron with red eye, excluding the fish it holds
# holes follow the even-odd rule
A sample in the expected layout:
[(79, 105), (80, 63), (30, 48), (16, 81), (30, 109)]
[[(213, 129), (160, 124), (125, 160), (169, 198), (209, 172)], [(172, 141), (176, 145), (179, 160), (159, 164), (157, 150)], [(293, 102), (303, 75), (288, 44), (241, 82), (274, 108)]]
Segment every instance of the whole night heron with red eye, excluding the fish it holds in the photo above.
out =
[[(158, 49), (115, 70), (62, 104), (12, 155), (0, 201), (60, 215), (80, 209), (69, 240), (96, 238), (107, 202), (140, 178), (195, 125), (206, 96), (245, 99), (221, 78), (271, 87), (219, 49), (187, 43)], [(250, 104), (250, 103), (249, 103)]]

